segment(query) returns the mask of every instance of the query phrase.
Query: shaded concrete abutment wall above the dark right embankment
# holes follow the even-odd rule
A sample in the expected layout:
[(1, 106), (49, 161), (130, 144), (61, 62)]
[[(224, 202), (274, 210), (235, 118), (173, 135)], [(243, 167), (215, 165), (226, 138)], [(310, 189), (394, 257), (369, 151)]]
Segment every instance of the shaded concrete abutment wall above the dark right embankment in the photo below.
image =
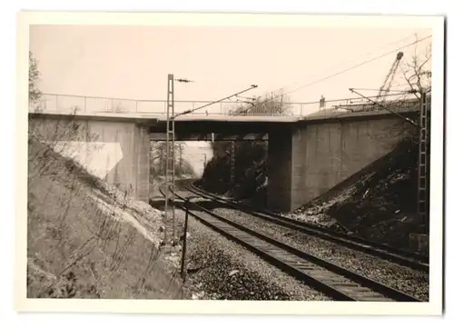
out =
[(411, 130), (388, 116), (298, 124), (291, 133), (270, 134), (269, 207), (288, 212), (306, 204), (388, 154)]

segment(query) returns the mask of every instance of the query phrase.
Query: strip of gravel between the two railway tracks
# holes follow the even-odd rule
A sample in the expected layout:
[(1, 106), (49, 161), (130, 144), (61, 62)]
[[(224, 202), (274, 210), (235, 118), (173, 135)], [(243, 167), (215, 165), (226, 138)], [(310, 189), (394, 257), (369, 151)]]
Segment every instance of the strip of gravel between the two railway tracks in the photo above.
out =
[(239, 210), (215, 208), (213, 212), (303, 252), (341, 265), (404, 293), (409, 293), (421, 301), (429, 300), (428, 273), (421, 273), (339, 244), (272, 224)]

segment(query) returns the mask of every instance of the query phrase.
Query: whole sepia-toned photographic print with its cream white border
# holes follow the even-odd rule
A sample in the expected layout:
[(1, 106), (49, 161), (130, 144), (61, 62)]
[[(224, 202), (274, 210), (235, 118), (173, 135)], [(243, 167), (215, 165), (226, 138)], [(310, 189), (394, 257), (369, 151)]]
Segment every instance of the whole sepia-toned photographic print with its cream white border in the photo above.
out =
[(442, 16), (98, 15), (18, 15), (19, 308), (441, 312)]

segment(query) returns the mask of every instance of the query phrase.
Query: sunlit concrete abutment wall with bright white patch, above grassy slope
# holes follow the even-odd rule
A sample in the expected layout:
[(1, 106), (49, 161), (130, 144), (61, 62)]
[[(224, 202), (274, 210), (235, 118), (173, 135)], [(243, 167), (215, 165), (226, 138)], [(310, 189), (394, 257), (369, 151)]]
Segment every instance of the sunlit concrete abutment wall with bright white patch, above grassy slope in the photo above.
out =
[(33, 118), (41, 141), (136, 199), (149, 199), (148, 131), (134, 123)]

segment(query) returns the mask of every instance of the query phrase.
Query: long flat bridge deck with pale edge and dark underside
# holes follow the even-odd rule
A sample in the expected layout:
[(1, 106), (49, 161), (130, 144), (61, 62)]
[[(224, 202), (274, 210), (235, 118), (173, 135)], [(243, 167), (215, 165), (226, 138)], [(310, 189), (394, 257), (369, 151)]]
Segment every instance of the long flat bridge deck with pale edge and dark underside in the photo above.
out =
[[(411, 116), (415, 109), (398, 109), (400, 114)], [(309, 116), (240, 116), (240, 115), (181, 115), (175, 118), (175, 140), (214, 141), (214, 140), (267, 140), (268, 134), (283, 125), (304, 126), (307, 124), (330, 124), (357, 120), (378, 120), (393, 114), (380, 110), (375, 112), (312, 114)], [(149, 130), (150, 140), (166, 139), (166, 116), (143, 113), (30, 113), (31, 118), (51, 120), (101, 121), (133, 123)]]

